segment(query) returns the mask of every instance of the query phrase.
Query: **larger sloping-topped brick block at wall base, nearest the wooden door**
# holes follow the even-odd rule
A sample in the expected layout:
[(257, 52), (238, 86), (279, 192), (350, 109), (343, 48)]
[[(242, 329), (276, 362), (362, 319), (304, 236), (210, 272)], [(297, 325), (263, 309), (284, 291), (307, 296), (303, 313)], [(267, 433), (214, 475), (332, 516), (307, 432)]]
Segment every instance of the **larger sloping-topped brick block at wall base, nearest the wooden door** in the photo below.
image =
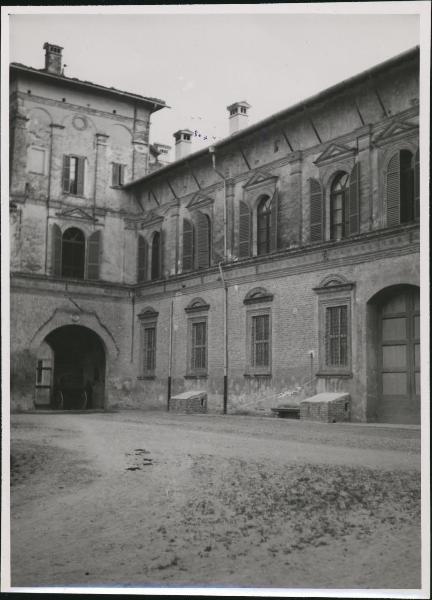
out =
[(300, 402), (301, 421), (341, 423), (351, 420), (351, 398), (345, 392), (325, 392)]

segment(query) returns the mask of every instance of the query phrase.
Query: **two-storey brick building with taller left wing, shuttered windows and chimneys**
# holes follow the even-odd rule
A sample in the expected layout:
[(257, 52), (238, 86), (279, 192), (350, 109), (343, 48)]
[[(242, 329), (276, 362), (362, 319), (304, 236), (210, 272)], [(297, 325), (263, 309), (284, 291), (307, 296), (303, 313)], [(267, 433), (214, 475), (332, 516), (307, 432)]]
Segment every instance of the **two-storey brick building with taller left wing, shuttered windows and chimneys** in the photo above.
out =
[(11, 66), (13, 406), (419, 421), (417, 48), (157, 169), (164, 102), (47, 65)]

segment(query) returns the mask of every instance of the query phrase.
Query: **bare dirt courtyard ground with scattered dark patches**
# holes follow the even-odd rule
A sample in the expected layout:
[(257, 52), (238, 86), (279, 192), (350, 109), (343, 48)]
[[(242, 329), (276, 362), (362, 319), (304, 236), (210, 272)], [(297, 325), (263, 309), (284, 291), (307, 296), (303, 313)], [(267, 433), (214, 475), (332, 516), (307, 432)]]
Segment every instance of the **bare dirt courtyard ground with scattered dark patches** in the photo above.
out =
[(12, 586), (420, 587), (420, 432), (11, 418)]

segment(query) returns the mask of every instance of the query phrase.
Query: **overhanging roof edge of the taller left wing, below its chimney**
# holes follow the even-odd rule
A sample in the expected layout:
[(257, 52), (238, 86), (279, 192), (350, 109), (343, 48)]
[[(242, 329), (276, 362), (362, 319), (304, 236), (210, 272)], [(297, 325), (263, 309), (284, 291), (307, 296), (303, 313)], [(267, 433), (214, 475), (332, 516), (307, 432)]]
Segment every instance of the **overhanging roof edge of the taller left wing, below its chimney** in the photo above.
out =
[(35, 69), (34, 67), (28, 67), (27, 65), (22, 65), (21, 63), (11, 63), (11, 74), (12, 73), (28, 73), (30, 75), (36, 75), (53, 83), (62, 83), (66, 85), (72, 85), (77, 87), (89, 88), (94, 91), (103, 92), (104, 94), (111, 94), (113, 96), (117, 96), (118, 98), (124, 98), (127, 100), (133, 100), (134, 102), (139, 102), (142, 104), (146, 104), (147, 106), (151, 106), (152, 112), (156, 112), (161, 108), (170, 108), (164, 100), (160, 100), (159, 98), (152, 98), (149, 96), (141, 96), (140, 94), (132, 94), (131, 92), (125, 92), (123, 90), (119, 90), (115, 87), (106, 87), (104, 85), (99, 85), (97, 83), (93, 83), (92, 81), (85, 81), (82, 79), (78, 79), (77, 77), (67, 77), (66, 75), (56, 75), (53, 73), (48, 73), (45, 69)]

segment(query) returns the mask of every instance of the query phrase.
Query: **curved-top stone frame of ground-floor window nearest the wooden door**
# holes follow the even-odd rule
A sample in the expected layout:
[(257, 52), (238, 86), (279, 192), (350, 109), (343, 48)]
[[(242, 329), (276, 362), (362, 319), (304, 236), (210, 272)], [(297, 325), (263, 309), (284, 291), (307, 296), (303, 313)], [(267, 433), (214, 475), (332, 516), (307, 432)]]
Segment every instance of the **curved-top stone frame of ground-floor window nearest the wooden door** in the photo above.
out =
[[(345, 278), (330, 275), (317, 288), (318, 295), (318, 335), (319, 335), (319, 371), (317, 377), (352, 377), (353, 361), (353, 289), (355, 284)], [(326, 315), (327, 309), (347, 307), (347, 364), (328, 366), (326, 364)]]

